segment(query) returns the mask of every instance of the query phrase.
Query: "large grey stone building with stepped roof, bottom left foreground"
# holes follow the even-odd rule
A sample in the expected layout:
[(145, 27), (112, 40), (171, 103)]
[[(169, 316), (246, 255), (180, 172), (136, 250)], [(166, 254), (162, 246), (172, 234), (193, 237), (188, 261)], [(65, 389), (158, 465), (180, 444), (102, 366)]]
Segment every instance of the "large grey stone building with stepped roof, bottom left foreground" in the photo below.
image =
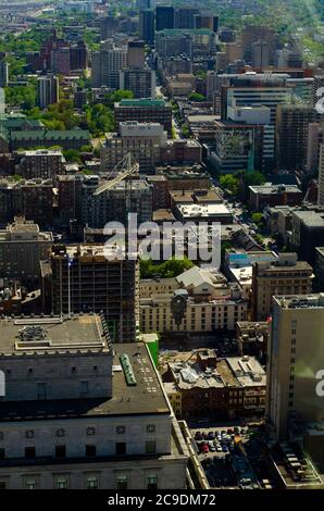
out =
[(188, 449), (146, 344), (113, 349), (101, 314), (0, 328), (1, 489), (186, 489)]

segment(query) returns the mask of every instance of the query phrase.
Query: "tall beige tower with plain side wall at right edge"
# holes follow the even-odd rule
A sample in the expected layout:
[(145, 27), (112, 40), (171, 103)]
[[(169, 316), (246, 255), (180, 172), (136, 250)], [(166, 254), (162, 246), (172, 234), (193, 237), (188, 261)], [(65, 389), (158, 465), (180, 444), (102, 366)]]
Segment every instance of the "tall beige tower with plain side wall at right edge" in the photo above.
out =
[(267, 421), (285, 439), (294, 421), (324, 420), (317, 373), (324, 367), (323, 295), (273, 298), (267, 363)]

